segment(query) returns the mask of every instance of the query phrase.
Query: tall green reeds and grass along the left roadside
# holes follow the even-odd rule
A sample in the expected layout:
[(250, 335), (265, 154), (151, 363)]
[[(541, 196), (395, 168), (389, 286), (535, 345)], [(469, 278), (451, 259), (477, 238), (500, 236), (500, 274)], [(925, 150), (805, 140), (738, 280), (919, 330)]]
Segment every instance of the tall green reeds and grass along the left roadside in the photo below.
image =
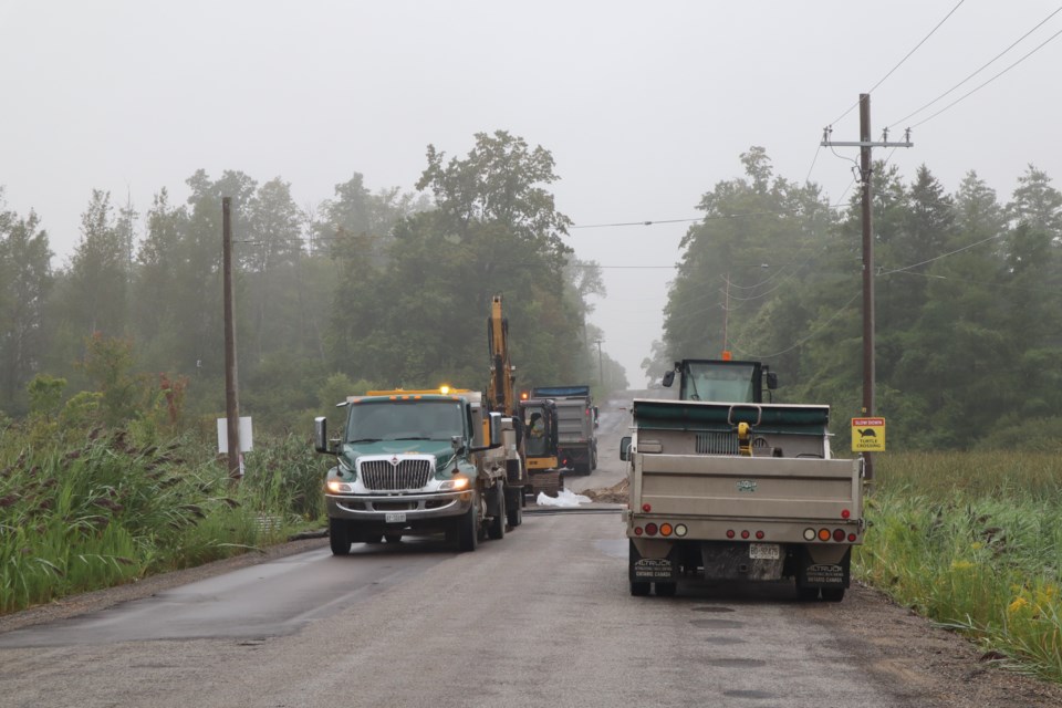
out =
[(194, 438), (85, 435), (69, 449), (0, 437), (0, 613), (284, 540), (321, 514), (309, 440), (259, 440), (232, 486)]

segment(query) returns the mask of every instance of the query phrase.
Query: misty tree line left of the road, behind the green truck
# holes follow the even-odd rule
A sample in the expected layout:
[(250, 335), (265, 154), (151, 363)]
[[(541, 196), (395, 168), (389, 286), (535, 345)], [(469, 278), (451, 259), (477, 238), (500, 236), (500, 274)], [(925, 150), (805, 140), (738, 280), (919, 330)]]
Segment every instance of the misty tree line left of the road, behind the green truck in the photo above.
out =
[[(80, 405), (175, 426), (225, 409), (221, 198), (232, 200), (240, 408), (256, 429), (304, 426), (369, 388), (486, 386), (501, 293), (518, 384), (596, 382), (598, 267), (565, 243), (553, 157), (504, 131), (462, 157), (428, 146), (416, 192), (355, 173), (300, 208), (281, 178), (241, 171), (166, 188), (145, 215), (92, 192), (65, 267), (40, 217), (0, 191), (0, 417)], [(138, 225), (143, 223), (143, 232)], [(606, 385), (626, 386), (606, 362)], [(42, 410), (42, 408), (44, 408)]]

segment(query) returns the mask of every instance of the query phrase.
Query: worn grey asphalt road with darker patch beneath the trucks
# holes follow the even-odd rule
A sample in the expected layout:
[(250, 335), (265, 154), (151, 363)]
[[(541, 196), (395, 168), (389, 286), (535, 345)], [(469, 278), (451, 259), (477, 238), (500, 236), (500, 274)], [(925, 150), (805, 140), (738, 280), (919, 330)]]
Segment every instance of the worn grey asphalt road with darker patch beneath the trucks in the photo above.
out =
[[(601, 468), (570, 488), (623, 477), (618, 404), (602, 410)], [(867, 670), (865, 642), (832, 620), (851, 596), (632, 597), (626, 551), (613, 507), (529, 513), (473, 553), (425, 539), (291, 555), (0, 634), (0, 705), (944, 705)]]

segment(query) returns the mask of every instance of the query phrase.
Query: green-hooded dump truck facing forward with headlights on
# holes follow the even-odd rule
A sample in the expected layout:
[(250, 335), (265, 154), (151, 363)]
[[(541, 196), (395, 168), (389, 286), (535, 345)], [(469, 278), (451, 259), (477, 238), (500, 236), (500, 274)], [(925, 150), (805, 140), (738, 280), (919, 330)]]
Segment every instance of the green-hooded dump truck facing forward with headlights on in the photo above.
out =
[(444, 533), (461, 552), (504, 537), (507, 470), (491, 454), (506, 421), (480, 392), (374, 391), (339, 405), (346, 423), (336, 438), (325, 417), (314, 419), (314, 449), (336, 458), (324, 480), (333, 554), (406, 533)]

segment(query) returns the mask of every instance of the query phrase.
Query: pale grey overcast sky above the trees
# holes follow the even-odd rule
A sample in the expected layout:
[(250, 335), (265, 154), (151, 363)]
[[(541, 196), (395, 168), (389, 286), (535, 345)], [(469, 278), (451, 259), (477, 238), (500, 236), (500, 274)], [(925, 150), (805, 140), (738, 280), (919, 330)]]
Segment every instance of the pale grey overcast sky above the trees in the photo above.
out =
[[(905, 118), (1060, 4), (0, 0), (0, 185), (9, 209), (42, 217), (56, 264), (93, 188), (142, 214), (163, 187), (183, 202), (200, 168), (281, 177), (300, 206), (355, 171), (412, 191), (429, 143), (464, 156), (496, 129), (552, 152), (556, 206), (576, 225), (696, 219), (752, 145), (839, 202), (857, 148), (820, 150), (822, 129), (857, 139), (845, 112), (881, 82), (875, 137), (925, 121), (892, 155), (905, 180), (926, 164), (954, 191), (975, 169), (1007, 201), (1030, 163), (1060, 186), (1062, 38), (930, 116), (1062, 31), (1062, 12)], [(633, 385), (689, 223), (571, 232), (604, 268), (592, 320)]]

